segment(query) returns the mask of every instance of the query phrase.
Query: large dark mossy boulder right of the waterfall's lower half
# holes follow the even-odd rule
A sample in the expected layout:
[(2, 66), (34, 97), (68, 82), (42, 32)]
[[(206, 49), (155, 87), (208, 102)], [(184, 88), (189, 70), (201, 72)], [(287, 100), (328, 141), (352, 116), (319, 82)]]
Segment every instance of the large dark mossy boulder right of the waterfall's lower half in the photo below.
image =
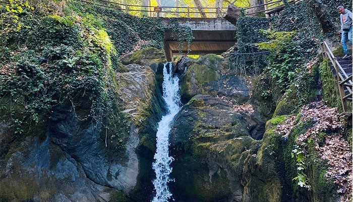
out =
[(260, 148), (260, 142), (252, 138), (256, 122), (251, 109), (196, 95), (174, 118), (169, 139), (175, 179), (171, 190), (177, 200), (243, 201), (248, 197), (249, 193), (243, 196), (248, 189), (242, 176)]

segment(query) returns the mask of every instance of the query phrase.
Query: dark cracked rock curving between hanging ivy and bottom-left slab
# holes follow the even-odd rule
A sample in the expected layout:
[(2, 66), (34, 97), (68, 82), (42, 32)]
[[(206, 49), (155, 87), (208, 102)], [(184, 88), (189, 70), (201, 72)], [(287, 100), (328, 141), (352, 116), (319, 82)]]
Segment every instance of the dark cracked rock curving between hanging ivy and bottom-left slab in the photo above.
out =
[(48, 137), (79, 163), (93, 182), (128, 193), (136, 184), (138, 160), (134, 148), (139, 143), (138, 130), (132, 126), (127, 150), (127, 161), (109, 162), (103, 142), (99, 139), (100, 123), (82, 129), (72, 111), (56, 111), (49, 121)]

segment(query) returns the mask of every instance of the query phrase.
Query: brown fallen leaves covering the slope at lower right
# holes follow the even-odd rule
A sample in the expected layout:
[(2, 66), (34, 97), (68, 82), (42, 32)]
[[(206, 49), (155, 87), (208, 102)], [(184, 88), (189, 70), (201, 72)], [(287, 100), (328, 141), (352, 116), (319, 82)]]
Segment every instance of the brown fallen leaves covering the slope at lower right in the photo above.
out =
[[(300, 120), (296, 123), (296, 116), (288, 116), (283, 124), (276, 128), (278, 134), (287, 138), (295, 126), (304, 124), (309, 129), (299, 135), (297, 144), (306, 145), (311, 139), (321, 159), (328, 164), (326, 178), (333, 178), (337, 184), (337, 194), (340, 201), (352, 199), (352, 153), (348, 141), (344, 138), (338, 111), (322, 102), (304, 106), (300, 112)], [(319, 133), (325, 133), (324, 144), (319, 144)]]

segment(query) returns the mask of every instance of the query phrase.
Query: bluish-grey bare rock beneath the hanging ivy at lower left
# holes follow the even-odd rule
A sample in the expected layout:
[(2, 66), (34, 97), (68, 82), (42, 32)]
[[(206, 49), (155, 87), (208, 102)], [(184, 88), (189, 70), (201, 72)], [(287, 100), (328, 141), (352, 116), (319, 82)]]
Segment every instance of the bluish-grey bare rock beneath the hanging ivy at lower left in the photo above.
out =
[(115, 189), (128, 194), (136, 185), (136, 126), (130, 129), (125, 161), (109, 160), (99, 137), (100, 123), (83, 128), (73, 110), (54, 110), (42, 130), (47, 130), (44, 140), (30, 134), (10, 144), (0, 169), (1, 198), (107, 201)]

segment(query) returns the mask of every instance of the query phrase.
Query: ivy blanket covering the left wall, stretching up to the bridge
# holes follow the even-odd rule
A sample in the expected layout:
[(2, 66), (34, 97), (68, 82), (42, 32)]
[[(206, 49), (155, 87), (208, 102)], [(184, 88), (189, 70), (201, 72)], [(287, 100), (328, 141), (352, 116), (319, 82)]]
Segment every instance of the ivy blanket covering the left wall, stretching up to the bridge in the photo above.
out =
[(160, 20), (76, 1), (43, 4), (17, 13), (21, 29), (2, 33), (0, 116), (15, 134), (30, 135), (53, 111), (71, 108), (83, 125), (104, 123), (102, 143), (109, 138), (107, 152), (119, 155), (130, 125), (117, 109), (115, 75), (126, 71), (119, 57), (134, 48), (161, 49)]

